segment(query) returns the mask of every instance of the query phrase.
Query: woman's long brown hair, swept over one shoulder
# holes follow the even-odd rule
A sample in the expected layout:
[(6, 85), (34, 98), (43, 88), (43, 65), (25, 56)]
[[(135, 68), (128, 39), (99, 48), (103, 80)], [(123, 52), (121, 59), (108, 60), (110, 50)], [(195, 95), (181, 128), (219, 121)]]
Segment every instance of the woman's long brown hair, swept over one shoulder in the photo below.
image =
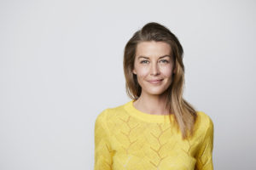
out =
[[(125, 88), (128, 96), (136, 100), (142, 93), (142, 88), (137, 82), (137, 75), (133, 74), (134, 61), (136, 57), (137, 44), (139, 42), (166, 42), (172, 48), (172, 57), (176, 73), (172, 75), (172, 84), (166, 89), (166, 108), (170, 113), (174, 113), (177, 127), (182, 133), (183, 139), (193, 135), (193, 128), (196, 121), (196, 111), (185, 99), (183, 99), (184, 86), (184, 65), (183, 47), (177, 37), (165, 26), (156, 22), (150, 22), (143, 26), (141, 30), (134, 33), (125, 45), (124, 71)], [(189, 135), (188, 135), (189, 134)]]

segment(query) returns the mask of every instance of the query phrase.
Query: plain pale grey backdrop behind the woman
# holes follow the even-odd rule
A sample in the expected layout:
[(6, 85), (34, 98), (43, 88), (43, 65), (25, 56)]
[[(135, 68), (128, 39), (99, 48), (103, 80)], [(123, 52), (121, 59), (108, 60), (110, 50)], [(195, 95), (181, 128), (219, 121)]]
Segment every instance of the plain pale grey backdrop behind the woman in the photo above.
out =
[(0, 1), (0, 169), (89, 170), (123, 105), (123, 53), (148, 22), (183, 45), (184, 99), (214, 123), (217, 170), (256, 169), (256, 2)]

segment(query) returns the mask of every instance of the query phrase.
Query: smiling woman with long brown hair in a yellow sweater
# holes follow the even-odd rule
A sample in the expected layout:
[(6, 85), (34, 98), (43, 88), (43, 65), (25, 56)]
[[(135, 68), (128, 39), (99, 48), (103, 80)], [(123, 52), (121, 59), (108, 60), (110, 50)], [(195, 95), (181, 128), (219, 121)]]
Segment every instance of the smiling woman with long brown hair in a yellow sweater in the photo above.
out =
[(183, 48), (151, 22), (125, 46), (131, 101), (96, 118), (95, 170), (212, 170), (213, 123), (183, 99)]

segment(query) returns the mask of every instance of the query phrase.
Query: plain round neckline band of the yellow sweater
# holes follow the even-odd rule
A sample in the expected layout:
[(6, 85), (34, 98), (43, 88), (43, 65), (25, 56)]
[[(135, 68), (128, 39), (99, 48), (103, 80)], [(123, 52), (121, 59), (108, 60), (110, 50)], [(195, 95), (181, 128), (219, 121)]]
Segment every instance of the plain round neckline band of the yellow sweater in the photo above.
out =
[(125, 110), (131, 116), (134, 116), (143, 122), (161, 122), (161, 123), (170, 123), (173, 121), (174, 114), (169, 115), (153, 115), (149, 113), (145, 113), (143, 111), (139, 111), (133, 105), (135, 100), (131, 100), (125, 104)]

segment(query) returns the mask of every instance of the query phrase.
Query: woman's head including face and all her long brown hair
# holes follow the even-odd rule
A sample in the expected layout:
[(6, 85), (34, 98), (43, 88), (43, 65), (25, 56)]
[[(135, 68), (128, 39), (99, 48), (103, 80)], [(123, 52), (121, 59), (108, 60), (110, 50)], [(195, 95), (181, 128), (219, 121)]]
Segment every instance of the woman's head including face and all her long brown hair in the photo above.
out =
[[(142, 55), (146, 56), (139, 60)], [(171, 31), (155, 22), (136, 31), (125, 45), (124, 71), (126, 93), (131, 99), (138, 99), (143, 92), (165, 93), (166, 108), (175, 115), (183, 139), (193, 134), (197, 116), (194, 107), (183, 99), (183, 47)]]

